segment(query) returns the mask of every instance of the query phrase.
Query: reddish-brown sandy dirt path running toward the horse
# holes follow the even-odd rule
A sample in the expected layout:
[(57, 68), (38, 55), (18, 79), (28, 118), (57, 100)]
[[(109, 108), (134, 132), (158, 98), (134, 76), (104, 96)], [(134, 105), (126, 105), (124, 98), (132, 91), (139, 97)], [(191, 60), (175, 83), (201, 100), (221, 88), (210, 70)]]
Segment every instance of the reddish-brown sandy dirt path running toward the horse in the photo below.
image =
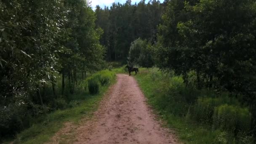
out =
[(95, 118), (75, 130), (75, 144), (175, 144), (176, 139), (161, 128), (136, 80), (117, 75)]

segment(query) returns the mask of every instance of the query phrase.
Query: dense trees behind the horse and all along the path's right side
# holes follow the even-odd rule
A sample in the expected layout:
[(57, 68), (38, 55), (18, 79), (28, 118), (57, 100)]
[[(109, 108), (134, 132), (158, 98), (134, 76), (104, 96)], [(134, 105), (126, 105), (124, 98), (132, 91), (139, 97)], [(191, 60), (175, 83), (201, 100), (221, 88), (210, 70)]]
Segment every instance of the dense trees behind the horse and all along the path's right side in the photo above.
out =
[(254, 0), (127, 1), (98, 6), (96, 14), (107, 60), (168, 69), (182, 75), (188, 87), (228, 91), (248, 106), (250, 134), (256, 133)]

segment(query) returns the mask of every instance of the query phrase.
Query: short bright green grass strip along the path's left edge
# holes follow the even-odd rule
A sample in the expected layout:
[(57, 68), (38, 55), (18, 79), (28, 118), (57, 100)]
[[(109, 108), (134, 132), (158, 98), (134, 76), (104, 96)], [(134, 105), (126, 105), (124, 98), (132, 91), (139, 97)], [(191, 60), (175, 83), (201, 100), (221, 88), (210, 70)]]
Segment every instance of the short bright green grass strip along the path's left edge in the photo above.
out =
[[(115, 76), (112, 77), (110, 83), (101, 86), (100, 92), (96, 95), (90, 95), (88, 91), (69, 95), (68, 99), (76, 99), (80, 104), (72, 108), (56, 110), (39, 118), (35, 118), (30, 128), (17, 134), (14, 144), (43, 144), (48, 142), (52, 136), (64, 126), (64, 123), (71, 122), (73, 124), (79, 124), (81, 119), (90, 118), (93, 112), (98, 108), (99, 102), (104, 93), (108, 90), (109, 85), (113, 83), (115, 83)], [(10, 141), (13, 140), (5, 141), (4, 143)]]

